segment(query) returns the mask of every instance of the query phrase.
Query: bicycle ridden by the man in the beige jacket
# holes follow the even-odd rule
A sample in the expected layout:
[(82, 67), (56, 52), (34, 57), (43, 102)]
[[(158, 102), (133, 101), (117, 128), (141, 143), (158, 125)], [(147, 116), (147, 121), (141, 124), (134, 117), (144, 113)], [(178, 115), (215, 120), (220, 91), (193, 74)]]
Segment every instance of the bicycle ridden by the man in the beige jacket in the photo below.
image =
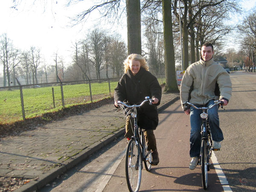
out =
[(197, 107), (189, 102), (184, 102), (183, 105), (190, 105), (195, 109), (202, 110), (202, 113), (200, 114), (200, 117), (202, 119), (202, 125), (201, 125), (201, 152), (200, 152), (200, 159), (199, 159), (199, 165), (201, 165), (201, 171), (202, 171), (202, 184), (204, 189), (207, 189), (207, 180), (208, 180), (208, 174), (207, 172), (209, 169), (209, 159), (212, 156), (212, 151), (219, 151), (219, 149), (213, 149), (212, 148), (212, 134), (209, 127), (208, 122), (208, 110), (215, 105), (223, 105), (223, 102), (221, 101), (214, 101), (213, 105), (209, 105), (209, 107)]

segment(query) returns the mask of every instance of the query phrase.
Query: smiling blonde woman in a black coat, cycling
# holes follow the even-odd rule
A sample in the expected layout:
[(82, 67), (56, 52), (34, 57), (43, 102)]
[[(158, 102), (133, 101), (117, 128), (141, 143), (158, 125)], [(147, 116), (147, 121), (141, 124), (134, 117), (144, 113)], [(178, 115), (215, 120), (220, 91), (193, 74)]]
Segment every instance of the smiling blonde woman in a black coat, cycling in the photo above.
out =
[[(154, 131), (158, 125), (157, 105), (160, 104), (162, 89), (157, 78), (148, 71), (148, 65), (141, 55), (128, 55), (124, 61), (125, 74), (119, 80), (114, 91), (114, 105), (118, 107), (117, 101), (126, 102), (130, 105), (140, 104), (145, 96), (152, 98), (153, 105), (145, 103), (141, 108), (137, 108), (137, 119), (140, 128), (145, 129), (145, 139), (148, 151), (152, 151), (151, 165), (159, 163), (157, 143)], [(133, 118), (126, 116), (125, 137), (129, 140), (133, 136)]]

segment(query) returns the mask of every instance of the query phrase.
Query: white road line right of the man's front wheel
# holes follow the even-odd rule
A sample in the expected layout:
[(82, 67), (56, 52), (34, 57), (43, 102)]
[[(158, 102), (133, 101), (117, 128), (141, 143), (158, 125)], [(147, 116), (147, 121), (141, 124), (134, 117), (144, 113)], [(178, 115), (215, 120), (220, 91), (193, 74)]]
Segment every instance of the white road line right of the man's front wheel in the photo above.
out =
[(222, 171), (221, 166), (218, 163), (217, 157), (215, 156), (215, 153), (213, 151), (212, 151), (211, 160), (212, 160), (213, 166), (215, 168), (215, 171), (219, 177), (219, 180), (221, 182), (224, 192), (232, 192), (232, 190), (228, 184), (227, 178), (226, 178), (224, 172)]

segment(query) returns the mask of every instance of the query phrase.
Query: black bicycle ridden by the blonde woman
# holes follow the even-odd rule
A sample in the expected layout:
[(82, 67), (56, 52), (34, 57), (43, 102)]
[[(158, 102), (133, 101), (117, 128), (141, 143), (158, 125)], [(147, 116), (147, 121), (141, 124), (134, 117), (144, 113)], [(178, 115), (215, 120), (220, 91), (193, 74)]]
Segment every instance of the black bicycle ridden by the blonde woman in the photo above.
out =
[(150, 171), (152, 162), (151, 150), (147, 151), (147, 144), (145, 142), (144, 131), (137, 124), (137, 110), (146, 102), (151, 104), (152, 99), (148, 96), (140, 105), (126, 105), (123, 102), (117, 102), (117, 104), (128, 114), (126, 108), (131, 109), (131, 117), (134, 119), (133, 133), (126, 149), (125, 156), (125, 175), (130, 192), (137, 192), (140, 188), (141, 182), (141, 170), (143, 169), (142, 161), (144, 161), (145, 169)]

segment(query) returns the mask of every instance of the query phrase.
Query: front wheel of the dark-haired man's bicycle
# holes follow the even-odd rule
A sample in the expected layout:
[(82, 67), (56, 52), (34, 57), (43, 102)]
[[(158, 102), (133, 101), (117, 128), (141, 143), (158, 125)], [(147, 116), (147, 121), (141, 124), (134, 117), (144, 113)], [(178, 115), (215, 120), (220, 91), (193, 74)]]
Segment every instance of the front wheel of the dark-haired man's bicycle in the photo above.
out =
[(201, 143), (201, 170), (202, 170), (202, 184), (204, 189), (207, 189), (207, 180), (208, 180), (208, 153), (206, 140), (202, 140)]

